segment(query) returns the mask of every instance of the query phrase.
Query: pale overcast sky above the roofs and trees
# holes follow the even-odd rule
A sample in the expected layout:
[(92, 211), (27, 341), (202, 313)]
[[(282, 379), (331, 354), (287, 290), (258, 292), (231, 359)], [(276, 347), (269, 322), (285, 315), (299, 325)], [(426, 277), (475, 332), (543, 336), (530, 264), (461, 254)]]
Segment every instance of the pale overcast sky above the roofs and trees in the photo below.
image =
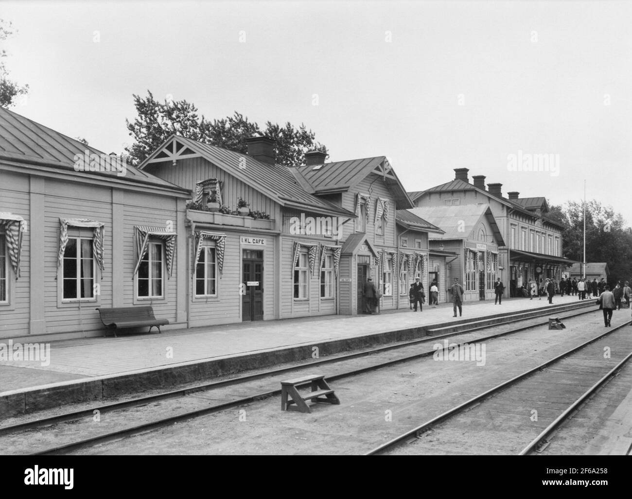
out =
[(104, 152), (133, 94), (305, 123), (338, 161), (386, 155), (408, 191), (455, 168), (502, 194), (584, 196), (624, 219), (632, 2), (0, 0), (13, 111)]

